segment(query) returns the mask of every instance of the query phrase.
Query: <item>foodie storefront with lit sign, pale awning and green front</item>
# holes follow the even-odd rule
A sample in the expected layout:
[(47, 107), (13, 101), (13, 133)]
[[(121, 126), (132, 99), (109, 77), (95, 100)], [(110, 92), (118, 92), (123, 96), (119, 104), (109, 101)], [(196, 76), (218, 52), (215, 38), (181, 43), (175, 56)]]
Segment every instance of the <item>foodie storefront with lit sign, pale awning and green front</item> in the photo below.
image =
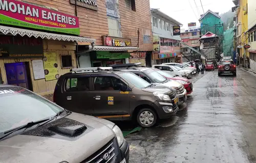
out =
[[(86, 46), (78, 46), (78, 50)], [(79, 52), (80, 67), (100, 67), (112, 64), (129, 63), (130, 53), (137, 51), (138, 47), (132, 46), (129, 38), (102, 36), (102, 45), (88, 46), (87, 49)], [(87, 59), (84, 59), (87, 56)], [(89, 56), (89, 57), (88, 57)], [(91, 60), (89, 65), (88, 60)]]

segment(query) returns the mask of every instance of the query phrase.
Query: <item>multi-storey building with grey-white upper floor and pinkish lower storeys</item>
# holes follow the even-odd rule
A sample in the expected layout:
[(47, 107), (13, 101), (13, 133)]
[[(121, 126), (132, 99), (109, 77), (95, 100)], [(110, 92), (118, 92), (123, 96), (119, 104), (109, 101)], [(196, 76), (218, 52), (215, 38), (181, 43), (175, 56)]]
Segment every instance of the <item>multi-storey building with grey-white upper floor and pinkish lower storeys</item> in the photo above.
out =
[(173, 31), (173, 26), (182, 24), (158, 9), (151, 9), (151, 14), (154, 44), (152, 64), (182, 62), (179, 43), (181, 37), (174, 36)]

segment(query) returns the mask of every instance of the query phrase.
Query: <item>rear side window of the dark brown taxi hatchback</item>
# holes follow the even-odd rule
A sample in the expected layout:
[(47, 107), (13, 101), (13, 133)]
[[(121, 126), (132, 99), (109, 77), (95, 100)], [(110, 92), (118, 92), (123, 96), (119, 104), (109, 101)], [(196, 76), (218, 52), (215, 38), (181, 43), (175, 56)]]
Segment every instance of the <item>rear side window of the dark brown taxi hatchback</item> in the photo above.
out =
[(89, 91), (89, 77), (68, 78), (66, 91)]

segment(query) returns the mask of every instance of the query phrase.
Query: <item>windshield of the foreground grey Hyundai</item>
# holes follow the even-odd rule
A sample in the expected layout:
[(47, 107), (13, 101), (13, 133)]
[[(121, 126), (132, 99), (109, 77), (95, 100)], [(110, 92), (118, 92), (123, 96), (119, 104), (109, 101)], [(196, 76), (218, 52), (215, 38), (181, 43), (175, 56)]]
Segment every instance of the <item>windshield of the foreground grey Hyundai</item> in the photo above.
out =
[(0, 132), (50, 118), (63, 111), (58, 105), (20, 87), (0, 87), (0, 101)]

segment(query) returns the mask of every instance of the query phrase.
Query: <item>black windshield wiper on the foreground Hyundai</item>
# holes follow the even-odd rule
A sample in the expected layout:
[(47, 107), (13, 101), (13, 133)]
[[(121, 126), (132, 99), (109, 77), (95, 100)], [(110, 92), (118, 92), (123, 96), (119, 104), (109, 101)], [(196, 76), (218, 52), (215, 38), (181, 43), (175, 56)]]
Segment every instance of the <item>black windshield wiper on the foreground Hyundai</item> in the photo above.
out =
[[(40, 124), (40, 123), (43, 123), (45, 122), (44, 124), (52, 121), (53, 119), (57, 118), (61, 113), (63, 113), (64, 111), (61, 111), (61, 112), (58, 112), (55, 116), (53, 116), (52, 118), (47, 118), (47, 119), (43, 119), (43, 120), (39, 120), (39, 121), (36, 121), (36, 122), (29, 122), (27, 123), (26, 125), (23, 125), (23, 126), (20, 126), (18, 128), (14, 128), (14, 129), (10, 129), (10, 130), (7, 130), (4, 132), (4, 136), (0, 138), (0, 140), (4, 139), (5, 137), (7, 137), (8, 135), (12, 134), (13, 132), (16, 132), (18, 130), (22, 130), (22, 129), (26, 129), (26, 128), (30, 128), (34, 125), (37, 125), (37, 124)], [(44, 125), (44, 124), (41, 124), (41, 125)], [(39, 125), (39, 126), (41, 126)]]

